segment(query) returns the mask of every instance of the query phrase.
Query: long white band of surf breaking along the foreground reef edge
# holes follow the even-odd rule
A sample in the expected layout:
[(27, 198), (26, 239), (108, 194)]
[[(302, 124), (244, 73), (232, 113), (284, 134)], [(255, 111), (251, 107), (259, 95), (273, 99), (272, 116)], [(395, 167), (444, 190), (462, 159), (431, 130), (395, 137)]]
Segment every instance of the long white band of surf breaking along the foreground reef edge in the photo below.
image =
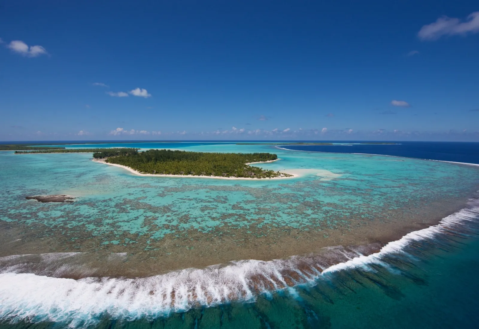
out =
[[(112, 318), (155, 318), (196, 305), (214, 306), (228, 300), (254, 300), (259, 293), (306, 282), (351, 267), (371, 270), (383, 256), (400, 253), (412, 241), (433, 238), (451, 227), (479, 218), (479, 203), (470, 204), (438, 225), (411, 232), (389, 242), (379, 252), (362, 256), (343, 251), (343, 263), (311, 266), (301, 271), (301, 257), (287, 260), (244, 260), (204, 269), (185, 269), (147, 278), (53, 278), (35, 274), (0, 274), (0, 319), (32, 319), (67, 322), (86, 327), (108, 313)], [(333, 249), (331, 249), (334, 251)], [(353, 255), (353, 256), (352, 256)], [(356, 256), (354, 256), (356, 255)], [(309, 260), (309, 265), (311, 265)], [(304, 264), (304, 262), (303, 262)], [(316, 270), (315, 270), (316, 267)], [(321, 273), (318, 268), (324, 268)]]

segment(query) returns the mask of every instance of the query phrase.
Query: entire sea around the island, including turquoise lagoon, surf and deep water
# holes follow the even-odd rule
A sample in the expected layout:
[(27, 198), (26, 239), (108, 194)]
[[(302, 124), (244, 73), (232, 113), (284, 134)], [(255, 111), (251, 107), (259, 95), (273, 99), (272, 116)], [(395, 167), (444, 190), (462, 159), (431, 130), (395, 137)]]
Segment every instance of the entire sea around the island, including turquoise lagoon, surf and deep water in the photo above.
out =
[(0, 152), (0, 329), (477, 328), (479, 143), (66, 145), (118, 146), (276, 153), (258, 166), (297, 177)]

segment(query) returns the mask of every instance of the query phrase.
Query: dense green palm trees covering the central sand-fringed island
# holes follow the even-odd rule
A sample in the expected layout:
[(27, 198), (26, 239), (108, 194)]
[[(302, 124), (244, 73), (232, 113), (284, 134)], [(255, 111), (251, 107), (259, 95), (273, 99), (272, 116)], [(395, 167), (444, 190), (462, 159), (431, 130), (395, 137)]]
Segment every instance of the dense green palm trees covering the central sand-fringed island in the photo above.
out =
[(106, 162), (125, 165), (144, 174), (205, 175), (270, 178), (291, 176), (263, 170), (247, 163), (276, 160), (270, 153), (202, 153), (172, 150), (148, 150), (109, 157)]

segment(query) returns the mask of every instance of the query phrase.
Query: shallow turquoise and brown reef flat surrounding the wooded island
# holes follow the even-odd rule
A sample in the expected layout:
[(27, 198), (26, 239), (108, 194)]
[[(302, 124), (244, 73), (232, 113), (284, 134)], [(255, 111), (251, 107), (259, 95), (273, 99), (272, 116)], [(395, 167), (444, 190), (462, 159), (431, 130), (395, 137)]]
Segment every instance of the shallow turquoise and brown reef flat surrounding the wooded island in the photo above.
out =
[[(274, 152), (281, 160), (261, 166), (297, 177), (147, 177), (95, 164), (90, 154), (2, 153), (7, 185), (0, 201), (0, 256), (84, 252), (81, 270), (58, 272), (54, 266), (47, 272), (137, 277), (320, 253), (338, 245), (384, 245), (460, 209), (479, 179), (477, 167), (424, 160), (271, 145), (181, 144), (171, 147)], [(25, 200), (37, 195), (72, 196), (75, 202)], [(108, 261), (111, 254), (126, 256), (115, 263)]]

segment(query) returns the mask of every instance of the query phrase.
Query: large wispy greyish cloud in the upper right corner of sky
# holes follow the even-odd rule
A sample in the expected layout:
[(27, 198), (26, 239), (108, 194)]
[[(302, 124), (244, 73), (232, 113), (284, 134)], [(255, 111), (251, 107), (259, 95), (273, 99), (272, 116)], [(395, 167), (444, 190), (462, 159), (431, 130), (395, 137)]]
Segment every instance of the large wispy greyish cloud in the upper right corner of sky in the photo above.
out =
[(437, 40), (445, 35), (465, 35), (479, 32), (479, 11), (468, 15), (465, 22), (458, 18), (439, 17), (436, 22), (422, 26), (418, 32), (421, 40)]

